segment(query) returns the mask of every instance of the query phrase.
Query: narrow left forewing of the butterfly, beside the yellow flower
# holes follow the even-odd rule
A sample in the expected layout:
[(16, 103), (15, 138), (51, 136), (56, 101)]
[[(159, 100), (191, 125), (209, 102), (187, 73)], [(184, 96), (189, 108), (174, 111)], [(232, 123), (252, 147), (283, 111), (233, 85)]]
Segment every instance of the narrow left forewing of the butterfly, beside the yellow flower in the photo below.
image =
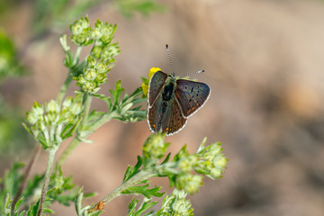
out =
[(161, 92), (166, 83), (167, 75), (162, 71), (157, 71), (149, 81), (148, 85), (148, 107), (152, 107), (157, 100), (157, 95)]

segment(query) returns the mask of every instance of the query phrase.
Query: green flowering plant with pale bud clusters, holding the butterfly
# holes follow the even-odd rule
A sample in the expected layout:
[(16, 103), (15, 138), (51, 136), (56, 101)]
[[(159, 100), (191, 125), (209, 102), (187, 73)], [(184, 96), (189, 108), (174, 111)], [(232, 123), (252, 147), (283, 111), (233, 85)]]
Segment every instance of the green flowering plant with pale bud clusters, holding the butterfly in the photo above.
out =
[[(66, 57), (64, 65), (68, 69), (67, 79), (62, 85), (57, 98), (49, 103), (34, 103), (26, 113), (24, 127), (40, 143), (39, 147), (49, 152), (48, 164), (43, 175), (35, 175), (28, 179), (31, 166), (22, 174), (21, 164), (15, 164), (4, 175), (4, 187), (0, 192), (1, 214), (4, 215), (42, 215), (52, 213), (50, 204), (57, 201), (69, 205), (75, 203), (78, 216), (100, 215), (104, 205), (121, 194), (142, 194), (144, 199), (134, 198), (129, 205), (128, 215), (193, 215), (192, 204), (186, 200), (187, 194), (197, 193), (202, 186), (203, 176), (219, 179), (223, 173), (227, 159), (222, 153), (220, 143), (205, 146), (206, 139), (195, 153), (189, 153), (186, 146), (171, 158), (167, 153), (170, 145), (165, 142), (165, 134), (157, 133), (148, 136), (142, 147), (142, 155), (138, 157), (135, 166), (128, 166), (122, 183), (111, 193), (94, 205), (83, 206), (82, 201), (91, 194), (83, 193), (83, 189), (73, 184), (72, 176), (65, 177), (61, 171), (67, 157), (81, 143), (90, 142), (87, 137), (104, 123), (117, 119), (120, 121), (142, 121), (147, 118), (146, 109), (149, 79), (160, 70), (152, 67), (148, 78), (142, 77), (141, 87), (131, 94), (121, 93), (121, 81), (118, 81), (111, 95), (98, 94), (101, 86), (108, 82), (115, 62), (120, 54), (119, 45), (113, 42), (113, 33), (117, 26), (97, 21), (91, 27), (87, 17), (71, 24), (71, 41), (77, 46), (72, 52), (67, 45), (67, 35), (60, 38), (60, 44)], [(90, 53), (80, 60), (80, 54), (85, 46), (91, 46)], [(79, 89), (75, 96), (66, 97), (67, 87), (76, 80)], [(91, 111), (92, 98), (96, 97), (107, 104), (106, 112)], [(67, 138), (73, 137), (67, 148), (55, 161), (58, 148)], [(31, 164), (35, 160), (31, 158)], [(30, 164), (30, 165), (31, 165)], [(174, 191), (166, 195), (161, 187), (151, 186), (151, 177), (167, 177)], [(154, 211), (152, 197), (164, 197), (162, 206)]]

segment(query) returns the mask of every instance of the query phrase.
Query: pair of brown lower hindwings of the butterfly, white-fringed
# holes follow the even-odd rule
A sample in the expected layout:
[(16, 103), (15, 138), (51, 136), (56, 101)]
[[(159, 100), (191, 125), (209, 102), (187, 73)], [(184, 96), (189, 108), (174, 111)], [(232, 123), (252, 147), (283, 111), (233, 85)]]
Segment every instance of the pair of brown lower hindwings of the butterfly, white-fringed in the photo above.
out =
[[(167, 136), (184, 128), (186, 119), (183, 117), (179, 104), (172, 96), (170, 101), (163, 101), (162, 94), (151, 108), (148, 108), (148, 125), (152, 132), (165, 132)], [(160, 98), (159, 98), (160, 97)]]

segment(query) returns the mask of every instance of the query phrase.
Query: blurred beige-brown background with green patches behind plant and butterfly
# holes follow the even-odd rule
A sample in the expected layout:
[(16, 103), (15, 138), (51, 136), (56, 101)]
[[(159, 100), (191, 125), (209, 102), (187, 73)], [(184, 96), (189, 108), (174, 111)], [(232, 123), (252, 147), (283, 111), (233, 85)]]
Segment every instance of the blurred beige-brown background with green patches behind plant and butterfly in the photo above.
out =
[[(166, 0), (135, 13), (110, 1), (64, 2), (0, 1), (0, 54), (7, 57), (0, 61), (1, 175), (31, 156), (24, 113), (58, 94), (67, 75), (58, 37), (88, 14), (91, 23), (118, 25), (121, 55), (102, 94), (119, 79), (132, 92), (150, 67), (170, 72), (166, 43), (177, 76), (206, 70), (192, 78), (211, 86), (208, 103), (166, 139), (172, 152), (184, 144), (194, 152), (208, 137), (229, 158), (222, 179), (204, 179), (189, 196), (195, 215), (324, 215), (324, 1)], [(93, 108), (106, 109), (100, 101)], [(90, 137), (93, 144), (76, 148), (63, 172), (97, 193), (86, 204), (121, 184), (149, 134), (146, 121), (110, 121)], [(33, 173), (46, 161), (42, 152)], [(166, 179), (153, 182), (170, 191)], [(103, 215), (126, 215), (129, 202), (119, 197)], [(73, 206), (53, 209), (75, 215)]]

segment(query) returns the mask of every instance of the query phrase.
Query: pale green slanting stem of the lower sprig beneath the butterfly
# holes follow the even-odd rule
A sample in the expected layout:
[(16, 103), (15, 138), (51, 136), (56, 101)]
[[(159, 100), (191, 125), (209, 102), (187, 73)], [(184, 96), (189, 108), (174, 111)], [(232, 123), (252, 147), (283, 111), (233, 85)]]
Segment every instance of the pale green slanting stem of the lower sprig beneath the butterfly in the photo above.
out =
[(121, 192), (126, 190), (132, 185), (139, 184), (139, 182), (144, 181), (150, 177), (153, 177), (157, 175), (155, 172), (149, 172), (149, 171), (140, 171), (137, 175), (134, 175), (130, 180), (127, 182), (121, 184), (119, 187), (116, 187), (111, 193), (109, 193), (107, 196), (105, 196), (102, 200), (104, 204), (111, 202), (114, 198), (121, 195)]

